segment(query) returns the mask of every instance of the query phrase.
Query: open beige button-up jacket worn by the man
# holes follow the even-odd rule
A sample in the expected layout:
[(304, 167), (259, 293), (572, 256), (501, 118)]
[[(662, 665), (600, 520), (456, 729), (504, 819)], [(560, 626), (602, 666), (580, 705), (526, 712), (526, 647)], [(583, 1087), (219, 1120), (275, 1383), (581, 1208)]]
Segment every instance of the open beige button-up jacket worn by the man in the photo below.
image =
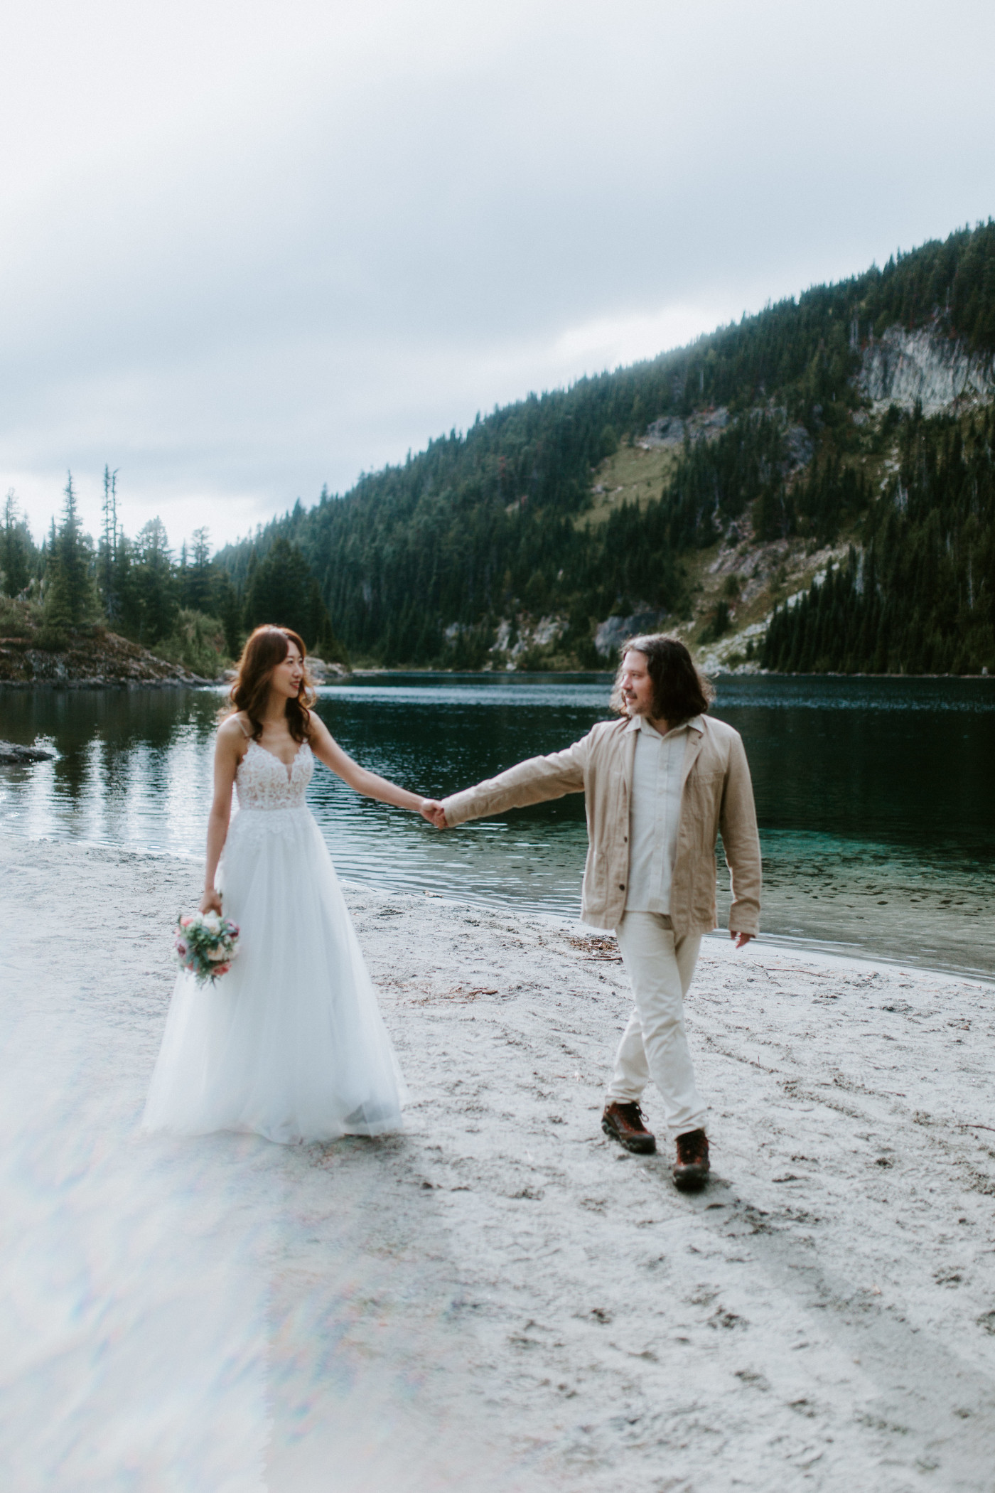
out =
[[(750, 770), (740, 733), (709, 715), (688, 723), (677, 855), (670, 917), (677, 938), (710, 933), (716, 926), (715, 842), (722, 835), (729, 867), (729, 929), (759, 932), (761, 850)], [(634, 720), (600, 721), (565, 751), (530, 757), (497, 778), (443, 800), (448, 824), (583, 793), (588, 811), (588, 861), (580, 917), (615, 929), (625, 912), (630, 799), (638, 730)]]

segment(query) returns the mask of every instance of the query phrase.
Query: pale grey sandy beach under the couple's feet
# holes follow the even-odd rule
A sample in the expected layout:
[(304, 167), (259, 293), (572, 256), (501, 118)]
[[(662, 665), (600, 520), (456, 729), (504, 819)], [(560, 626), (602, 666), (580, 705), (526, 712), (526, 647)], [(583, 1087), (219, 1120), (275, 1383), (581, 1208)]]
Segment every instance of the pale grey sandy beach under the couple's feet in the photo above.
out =
[(706, 941), (682, 1196), (612, 939), (348, 887), (406, 1132), (151, 1141), (198, 876), (0, 836), (10, 1493), (995, 1487), (991, 987)]

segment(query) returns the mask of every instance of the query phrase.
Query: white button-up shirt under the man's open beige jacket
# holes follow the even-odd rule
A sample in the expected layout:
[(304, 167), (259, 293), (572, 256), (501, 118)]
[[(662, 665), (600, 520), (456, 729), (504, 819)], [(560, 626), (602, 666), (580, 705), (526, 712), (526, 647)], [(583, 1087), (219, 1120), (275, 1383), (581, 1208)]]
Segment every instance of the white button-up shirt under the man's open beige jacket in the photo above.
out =
[(680, 790), (688, 727), (685, 721), (661, 736), (644, 715), (635, 717), (638, 741), (630, 800), (630, 876), (627, 912), (670, 914), (670, 882), (677, 855)]

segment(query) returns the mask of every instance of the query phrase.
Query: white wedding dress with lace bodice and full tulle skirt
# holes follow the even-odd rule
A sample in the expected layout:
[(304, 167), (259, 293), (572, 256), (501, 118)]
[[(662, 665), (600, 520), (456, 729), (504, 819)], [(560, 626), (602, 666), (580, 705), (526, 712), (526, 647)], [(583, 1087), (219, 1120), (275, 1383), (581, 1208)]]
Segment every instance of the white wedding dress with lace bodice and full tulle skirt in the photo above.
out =
[(304, 803), (313, 770), (307, 744), (286, 767), (249, 742), (218, 876), (239, 954), (215, 985), (181, 972), (143, 1130), (298, 1142), (401, 1126), (404, 1081)]

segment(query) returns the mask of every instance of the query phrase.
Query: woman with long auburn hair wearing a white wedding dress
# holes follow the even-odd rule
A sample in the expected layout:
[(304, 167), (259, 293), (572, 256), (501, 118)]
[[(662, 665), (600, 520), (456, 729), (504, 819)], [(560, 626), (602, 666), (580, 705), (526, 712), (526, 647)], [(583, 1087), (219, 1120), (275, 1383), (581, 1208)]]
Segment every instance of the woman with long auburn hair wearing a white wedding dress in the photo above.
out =
[(257, 627), (245, 645), (218, 730), (200, 902), (221, 912), (224, 891), (239, 957), (216, 985), (179, 975), (145, 1130), (295, 1142), (401, 1124), (404, 1079), (304, 790), (318, 757), (371, 799), (425, 818), (436, 802), (343, 752), (310, 709), (304, 652), (286, 627)]

